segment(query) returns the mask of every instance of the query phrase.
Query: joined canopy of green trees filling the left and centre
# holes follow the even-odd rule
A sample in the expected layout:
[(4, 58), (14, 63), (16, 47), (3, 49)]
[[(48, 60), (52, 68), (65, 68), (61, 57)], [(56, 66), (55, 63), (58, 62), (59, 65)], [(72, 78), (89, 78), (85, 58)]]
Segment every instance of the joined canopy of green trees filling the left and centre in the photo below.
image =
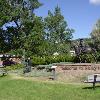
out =
[(44, 19), (36, 16), (34, 10), (40, 6), (38, 0), (0, 0), (0, 53), (23, 55), (25, 50), (27, 56), (46, 56), (68, 52), (74, 30), (58, 6)]

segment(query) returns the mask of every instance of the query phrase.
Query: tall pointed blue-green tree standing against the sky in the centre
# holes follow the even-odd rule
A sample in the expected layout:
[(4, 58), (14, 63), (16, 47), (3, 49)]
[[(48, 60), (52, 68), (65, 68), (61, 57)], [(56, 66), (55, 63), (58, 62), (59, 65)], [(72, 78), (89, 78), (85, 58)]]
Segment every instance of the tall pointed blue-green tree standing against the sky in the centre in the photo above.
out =
[(64, 16), (61, 14), (60, 8), (57, 6), (54, 13), (48, 11), (48, 16), (44, 19), (46, 29), (46, 40), (54, 46), (54, 52), (61, 50), (64, 53), (66, 44), (72, 38), (73, 29), (68, 28)]

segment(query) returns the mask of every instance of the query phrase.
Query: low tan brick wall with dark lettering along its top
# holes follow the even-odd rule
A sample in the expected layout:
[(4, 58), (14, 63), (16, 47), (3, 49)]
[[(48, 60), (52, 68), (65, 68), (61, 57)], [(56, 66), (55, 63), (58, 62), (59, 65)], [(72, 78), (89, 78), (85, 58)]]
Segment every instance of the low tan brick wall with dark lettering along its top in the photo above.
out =
[(100, 73), (100, 64), (76, 63), (56, 66), (57, 79), (62, 81), (83, 81), (87, 75)]

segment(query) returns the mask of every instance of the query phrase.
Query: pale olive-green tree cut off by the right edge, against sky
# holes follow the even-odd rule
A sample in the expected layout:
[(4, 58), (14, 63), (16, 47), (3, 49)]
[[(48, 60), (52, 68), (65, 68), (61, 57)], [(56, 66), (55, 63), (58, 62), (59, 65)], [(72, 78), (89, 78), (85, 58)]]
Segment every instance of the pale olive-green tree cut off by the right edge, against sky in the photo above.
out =
[(91, 32), (91, 38), (97, 50), (100, 50), (100, 19), (97, 20)]

